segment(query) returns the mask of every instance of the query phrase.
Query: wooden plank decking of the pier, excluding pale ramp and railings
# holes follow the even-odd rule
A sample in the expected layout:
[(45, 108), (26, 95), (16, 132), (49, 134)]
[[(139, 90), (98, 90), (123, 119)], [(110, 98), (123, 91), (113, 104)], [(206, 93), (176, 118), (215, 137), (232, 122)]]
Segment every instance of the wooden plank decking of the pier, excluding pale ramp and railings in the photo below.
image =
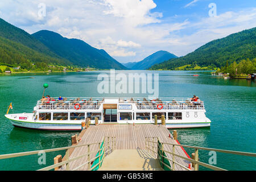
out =
[[(151, 125), (151, 124), (141, 124), (141, 125), (98, 125), (98, 126), (90, 126), (86, 130), (82, 130), (79, 138), (81, 141), (78, 145), (100, 142), (104, 137), (116, 137), (116, 150), (146, 150), (146, 137), (158, 137), (160, 142), (168, 142), (177, 144), (176, 140), (170, 138), (170, 131), (166, 129), (164, 125)], [(110, 143), (110, 146), (112, 144)], [(152, 143), (150, 144), (152, 146)], [(157, 145), (155, 145), (157, 146)], [(96, 151), (98, 149), (98, 145), (92, 145), (90, 147), (90, 151)], [(164, 149), (172, 152), (172, 146), (164, 145)], [(72, 151), (69, 151), (70, 157), (69, 159), (75, 158), (77, 156), (86, 154), (88, 151), (88, 147), (77, 147)], [(176, 154), (184, 156), (187, 158), (187, 154), (185, 154), (183, 148), (176, 147)], [(155, 155), (153, 152), (151, 155)], [(168, 158), (172, 159), (171, 154), (166, 154)], [(96, 152), (90, 155), (90, 159), (96, 156)], [(65, 157), (64, 157), (65, 158)], [(85, 163), (88, 159), (88, 156), (81, 158), (80, 160), (75, 160), (69, 163), (69, 169), (75, 169), (79, 167), (81, 164)], [(131, 159), (132, 160), (132, 159)], [(182, 164), (185, 167), (188, 167), (187, 160), (178, 158), (175, 156), (175, 161), (177, 163)], [(170, 164), (172, 164), (170, 162)], [(64, 168), (63, 168), (64, 169)], [(88, 164), (82, 166), (77, 170), (86, 170), (88, 169)], [(192, 168), (193, 169), (193, 168)], [(184, 168), (181, 168), (179, 165), (175, 164), (175, 170), (183, 171)]]

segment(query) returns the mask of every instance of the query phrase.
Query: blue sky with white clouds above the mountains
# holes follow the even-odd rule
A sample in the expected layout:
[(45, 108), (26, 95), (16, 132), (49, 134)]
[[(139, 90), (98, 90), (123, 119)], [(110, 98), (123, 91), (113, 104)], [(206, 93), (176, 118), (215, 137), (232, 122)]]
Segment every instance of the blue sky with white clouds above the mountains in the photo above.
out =
[(120, 63), (160, 50), (185, 56), (256, 27), (255, 0), (1, 0), (0, 18), (105, 49)]

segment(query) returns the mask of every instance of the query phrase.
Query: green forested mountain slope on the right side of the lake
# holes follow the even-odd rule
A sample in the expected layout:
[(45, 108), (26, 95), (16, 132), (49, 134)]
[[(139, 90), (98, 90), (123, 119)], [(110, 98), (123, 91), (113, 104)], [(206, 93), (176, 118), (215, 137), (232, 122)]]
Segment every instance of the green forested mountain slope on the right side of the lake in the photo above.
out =
[(224, 67), (226, 62), (239, 62), (256, 57), (256, 28), (231, 34), (222, 39), (213, 40), (197, 48), (186, 56), (164, 61), (150, 69), (175, 69), (184, 65), (200, 67)]

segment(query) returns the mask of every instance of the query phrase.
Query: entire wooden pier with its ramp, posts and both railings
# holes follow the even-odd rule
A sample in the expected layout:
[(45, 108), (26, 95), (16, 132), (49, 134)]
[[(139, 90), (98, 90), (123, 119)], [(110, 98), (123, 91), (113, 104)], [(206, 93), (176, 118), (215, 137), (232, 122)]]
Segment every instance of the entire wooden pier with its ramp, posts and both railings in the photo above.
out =
[[(212, 170), (226, 171), (224, 168), (200, 162), (199, 150), (256, 157), (254, 152), (179, 144), (176, 140), (175, 130), (174, 139), (172, 139), (170, 132), (164, 125), (164, 119), (162, 119), (162, 125), (110, 125), (109, 123), (87, 125), (86, 129), (85, 123), (82, 122), (82, 128), (83, 130), (79, 136), (72, 136), (72, 146), (3, 154), (0, 155), (0, 160), (38, 155), (42, 151), (48, 153), (65, 150), (64, 158), (61, 155), (57, 155), (54, 158), (54, 164), (38, 170), (197, 171), (199, 166), (203, 166)], [(195, 150), (195, 153), (192, 153), (192, 159), (182, 147)]]

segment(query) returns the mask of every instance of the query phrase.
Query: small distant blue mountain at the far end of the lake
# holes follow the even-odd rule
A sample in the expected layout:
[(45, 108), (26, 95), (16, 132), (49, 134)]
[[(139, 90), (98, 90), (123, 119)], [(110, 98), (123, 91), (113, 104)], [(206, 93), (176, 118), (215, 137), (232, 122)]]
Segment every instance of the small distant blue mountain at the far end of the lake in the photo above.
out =
[(130, 69), (141, 70), (148, 69), (154, 64), (162, 63), (163, 61), (176, 58), (174, 54), (167, 51), (158, 51), (153, 53), (152, 55), (146, 57), (142, 61), (135, 63), (127, 63), (127, 67)]

